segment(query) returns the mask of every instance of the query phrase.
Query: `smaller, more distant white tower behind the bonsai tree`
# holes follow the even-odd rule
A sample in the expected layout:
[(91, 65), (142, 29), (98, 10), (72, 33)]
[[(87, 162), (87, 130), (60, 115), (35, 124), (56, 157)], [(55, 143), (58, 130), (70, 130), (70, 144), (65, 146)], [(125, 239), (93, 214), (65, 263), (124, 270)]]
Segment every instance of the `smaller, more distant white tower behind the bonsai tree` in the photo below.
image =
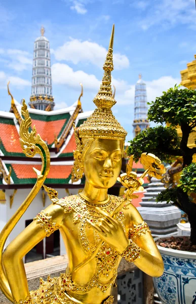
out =
[(135, 102), (134, 102), (134, 122), (133, 132), (134, 136), (139, 134), (146, 128), (149, 128), (149, 121), (147, 120), (147, 95), (146, 95), (146, 84), (141, 79), (139, 74), (139, 80), (135, 86)]

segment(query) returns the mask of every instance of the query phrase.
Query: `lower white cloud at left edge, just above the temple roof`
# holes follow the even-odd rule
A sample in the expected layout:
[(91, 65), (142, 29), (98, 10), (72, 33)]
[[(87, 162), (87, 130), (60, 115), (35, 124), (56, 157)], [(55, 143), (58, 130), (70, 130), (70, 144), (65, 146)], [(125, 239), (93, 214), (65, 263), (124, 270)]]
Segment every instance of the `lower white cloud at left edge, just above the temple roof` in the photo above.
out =
[(31, 86), (31, 83), (28, 80), (20, 77), (9, 76), (4, 71), (0, 71), (0, 89), (6, 89), (8, 81), (10, 81), (11, 86), (17, 87), (17, 89)]

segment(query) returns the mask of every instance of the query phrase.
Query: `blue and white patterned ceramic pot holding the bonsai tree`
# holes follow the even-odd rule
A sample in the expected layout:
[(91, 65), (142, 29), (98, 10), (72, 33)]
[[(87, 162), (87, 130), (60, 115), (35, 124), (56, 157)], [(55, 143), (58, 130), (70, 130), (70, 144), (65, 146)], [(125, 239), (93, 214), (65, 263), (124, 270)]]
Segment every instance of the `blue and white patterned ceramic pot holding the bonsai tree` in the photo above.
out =
[(153, 278), (163, 304), (196, 304), (196, 253), (158, 246), (164, 274)]

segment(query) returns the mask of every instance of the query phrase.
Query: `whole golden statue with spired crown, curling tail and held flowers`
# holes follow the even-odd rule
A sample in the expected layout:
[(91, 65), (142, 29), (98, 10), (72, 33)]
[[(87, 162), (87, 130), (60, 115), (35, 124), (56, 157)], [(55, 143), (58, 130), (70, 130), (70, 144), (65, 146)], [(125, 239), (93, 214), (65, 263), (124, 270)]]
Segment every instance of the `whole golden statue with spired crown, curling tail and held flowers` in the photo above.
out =
[[(115, 100), (111, 91), (113, 70), (114, 27), (104, 63), (100, 90), (94, 98), (97, 109), (79, 128), (75, 129), (76, 178), (86, 177), (85, 187), (78, 195), (58, 199), (58, 193), (44, 185), (52, 204), (38, 213), (32, 223), (18, 235), (2, 254), (6, 239), (37, 192), (43, 186), (50, 167), (50, 155), (45, 142), (29, 133), (30, 118), (23, 102), (20, 142), (24, 153), (42, 156), (42, 170), (36, 171), (37, 181), (29, 196), (6, 224), (0, 235), (0, 287), (14, 303), (21, 304), (112, 304), (112, 288), (117, 267), (124, 257), (134, 262), (146, 274), (161, 276), (164, 264), (147, 224), (131, 204), (133, 189), (141, 189), (142, 178), (131, 172), (122, 176), (128, 188), (126, 198), (107, 194), (120, 174), (127, 132), (112, 115)], [(146, 173), (160, 177), (165, 172), (154, 155), (142, 155)], [(23, 256), (45, 237), (59, 229), (68, 256), (68, 266), (58, 278), (40, 280), (40, 288), (28, 290)]]

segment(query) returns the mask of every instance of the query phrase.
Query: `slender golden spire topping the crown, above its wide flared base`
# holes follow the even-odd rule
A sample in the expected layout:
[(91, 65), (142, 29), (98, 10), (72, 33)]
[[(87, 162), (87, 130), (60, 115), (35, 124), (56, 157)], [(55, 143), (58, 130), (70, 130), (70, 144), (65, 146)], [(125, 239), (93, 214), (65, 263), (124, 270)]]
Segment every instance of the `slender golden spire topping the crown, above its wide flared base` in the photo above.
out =
[(105, 63), (103, 65), (104, 75), (102, 83), (99, 92), (93, 99), (93, 102), (99, 109), (110, 109), (116, 103), (111, 90), (111, 71), (113, 70), (113, 37), (114, 24), (111, 31), (109, 49), (107, 52)]

